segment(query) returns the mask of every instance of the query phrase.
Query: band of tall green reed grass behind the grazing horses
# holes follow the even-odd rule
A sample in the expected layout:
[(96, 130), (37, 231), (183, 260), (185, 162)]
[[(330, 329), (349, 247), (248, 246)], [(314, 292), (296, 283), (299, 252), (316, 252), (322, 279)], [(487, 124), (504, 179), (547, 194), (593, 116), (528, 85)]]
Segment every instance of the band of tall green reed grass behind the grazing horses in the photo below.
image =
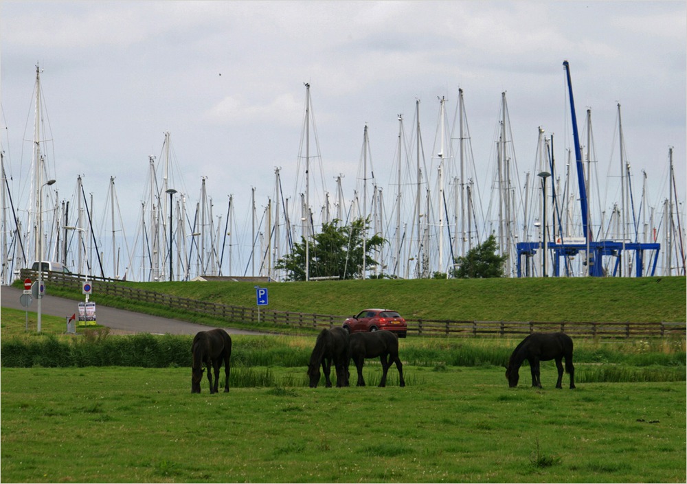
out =
[[(249, 386), (306, 386), (305, 373), (283, 382), (274, 380), (269, 372), (249, 370), (306, 367), (315, 336), (235, 335), (232, 340), (232, 380), (237, 379), (237, 386), (242, 385), (242, 378)], [(400, 354), (409, 367), (504, 367), (519, 341), (520, 338), (407, 338), (401, 341)], [(113, 336), (102, 329), (85, 332), (83, 336), (3, 338), (0, 357), (3, 367), (190, 367), (191, 343), (192, 336), (186, 335)], [(575, 342), (578, 382), (685, 380), (685, 359), (684, 338)], [(375, 379), (381, 376), (379, 361), (368, 360), (365, 366), (374, 369), (370, 379), (366, 376), (365, 380), (378, 384)], [(355, 369), (351, 369), (354, 382)], [(332, 371), (333, 378), (334, 375)], [(389, 376), (390, 384), (394, 384), (395, 367), (390, 369)]]

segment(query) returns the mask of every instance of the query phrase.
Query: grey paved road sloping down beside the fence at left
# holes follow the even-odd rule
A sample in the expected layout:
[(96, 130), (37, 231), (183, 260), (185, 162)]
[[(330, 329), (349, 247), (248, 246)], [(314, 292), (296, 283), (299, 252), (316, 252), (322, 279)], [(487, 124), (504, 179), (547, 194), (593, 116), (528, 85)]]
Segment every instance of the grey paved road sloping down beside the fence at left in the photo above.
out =
[[(19, 303), (19, 297), (21, 295), (21, 289), (12, 288), (10, 286), (0, 286), (0, 306), (3, 308), (27, 309)], [(185, 321), (177, 321), (176, 319), (166, 319), (158, 316), (148, 316), (148, 314), (141, 314), (139, 312), (108, 308), (98, 304), (97, 299), (95, 299), (94, 302), (96, 303), (95, 315), (97, 316), (98, 324), (110, 327), (113, 330), (132, 333), (196, 334), (199, 331), (213, 329), (213, 327), (201, 324), (187, 323)], [(28, 310), (30, 312), (38, 311), (38, 301), (36, 301), (36, 299), (34, 299)], [(65, 317), (71, 316), (71, 314), (75, 312), (78, 313), (78, 301), (72, 299), (46, 295), (43, 297), (43, 301), (41, 301), (42, 314)], [(229, 334), (264, 334), (258, 331), (236, 330), (231, 327), (225, 327), (224, 329)]]

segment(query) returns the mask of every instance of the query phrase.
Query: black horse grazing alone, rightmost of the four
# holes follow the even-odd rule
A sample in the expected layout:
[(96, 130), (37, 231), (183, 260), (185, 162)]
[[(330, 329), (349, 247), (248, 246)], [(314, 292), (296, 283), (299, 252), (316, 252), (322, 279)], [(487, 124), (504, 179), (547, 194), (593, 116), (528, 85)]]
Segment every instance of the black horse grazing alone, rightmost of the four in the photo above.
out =
[(530, 362), (532, 372), (532, 387), (541, 388), (539, 381), (539, 362), (556, 360), (556, 367), (559, 371), (559, 379), (556, 388), (563, 388), (563, 363), (565, 358), (565, 371), (570, 374), (570, 388), (575, 388), (575, 367), (572, 365), (572, 339), (565, 333), (533, 333), (523, 339), (513, 354), (510, 355), (508, 366), (506, 367), (506, 378), (508, 386), (517, 387), (519, 379), (518, 370), (522, 362)]

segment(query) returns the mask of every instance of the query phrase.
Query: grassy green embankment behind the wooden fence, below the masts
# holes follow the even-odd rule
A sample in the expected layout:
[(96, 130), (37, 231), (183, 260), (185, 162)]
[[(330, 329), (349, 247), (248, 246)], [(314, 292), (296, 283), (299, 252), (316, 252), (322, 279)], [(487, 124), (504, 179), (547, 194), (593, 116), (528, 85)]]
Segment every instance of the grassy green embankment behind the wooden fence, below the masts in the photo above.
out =
[[(687, 320), (685, 277), (537, 278), (469, 280), (367, 280), (269, 283), (270, 310), (350, 315), (361, 308), (398, 310), (409, 320), (684, 322)], [(256, 307), (248, 282), (122, 283), (179, 297)], [(193, 312), (98, 295), (91, 301), (210, 325), (242, 325)], [(56, 288), (51, 294), (82, 299)]]

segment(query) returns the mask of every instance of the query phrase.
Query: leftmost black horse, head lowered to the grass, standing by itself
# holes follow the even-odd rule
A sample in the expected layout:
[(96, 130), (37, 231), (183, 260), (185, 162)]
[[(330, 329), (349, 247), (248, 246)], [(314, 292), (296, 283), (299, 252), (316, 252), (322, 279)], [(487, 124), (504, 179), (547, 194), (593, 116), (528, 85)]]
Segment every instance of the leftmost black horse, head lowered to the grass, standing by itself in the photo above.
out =
[[(229, 358), (232, 357), (232, 338), (225, 330), (216, 329), (201, 331), (193, 338), (191, 345), (193, 355), (191, 393), (201, 393), (203, 380), (203, 363), (207, 366), (207, 381), (210, 382), (210, 393), (217, 393), (219, 385), (219, 369), (224, 360), (225, 384), (224, 391), (229, 391)], [(215, 381), (212, 384), (212, 368)]]

